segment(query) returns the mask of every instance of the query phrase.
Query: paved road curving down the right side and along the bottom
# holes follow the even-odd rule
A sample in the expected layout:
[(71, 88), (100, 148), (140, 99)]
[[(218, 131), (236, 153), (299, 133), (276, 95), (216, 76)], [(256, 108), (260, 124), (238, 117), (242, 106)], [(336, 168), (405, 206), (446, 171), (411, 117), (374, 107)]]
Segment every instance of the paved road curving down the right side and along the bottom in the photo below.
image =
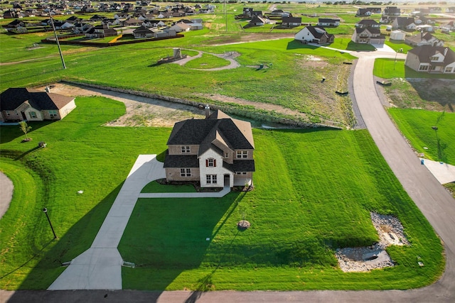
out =
[[(309, 292), (140, 292), (140, 291), (0, 291), (1, 302), (455, 302), (455, 200), (420, 165), (417, 155), (382, 107), (373, 81), (375, 57), (390, 53), (358, 53), (353, 88), (363, 120), (407, 193), (444, 241), (446, 270), (441, 279), (417, 290)], [(401, 55), (401, 54), (400, 54)], [(400, 57), (400, 56), (399, 56)]]

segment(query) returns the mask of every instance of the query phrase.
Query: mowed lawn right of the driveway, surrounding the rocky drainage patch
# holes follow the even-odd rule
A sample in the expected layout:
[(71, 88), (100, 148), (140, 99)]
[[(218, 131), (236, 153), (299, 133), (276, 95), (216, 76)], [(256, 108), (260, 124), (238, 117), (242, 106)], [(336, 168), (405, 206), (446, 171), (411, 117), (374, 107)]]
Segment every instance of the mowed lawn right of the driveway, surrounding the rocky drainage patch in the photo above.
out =
[[(138, 200), (119, 244), (136, 264), (123, 268), (124, 289), (405, 289), (441, 273), (441, 243), (367, 131), (254, 136), (252, 192)], [(370, 211), (398, 216), (412, 245), (388, 248), (395, 268), (344, 273), (336, 248), (378, 241)], [(242, 219), (252, 224), (246, 231), (237, 229)]]

